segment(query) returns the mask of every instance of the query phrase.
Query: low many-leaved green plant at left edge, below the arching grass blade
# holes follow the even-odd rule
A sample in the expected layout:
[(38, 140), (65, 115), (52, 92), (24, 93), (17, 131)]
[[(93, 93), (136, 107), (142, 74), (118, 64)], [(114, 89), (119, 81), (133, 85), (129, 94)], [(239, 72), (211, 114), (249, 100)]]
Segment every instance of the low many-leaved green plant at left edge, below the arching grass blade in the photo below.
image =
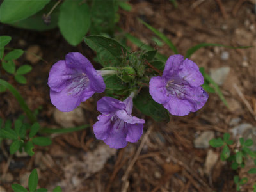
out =
[(23, 120), (24, 116), (20, 116), (20, 118), (15, 120), (14, 129), (12, 129), (12, 122), (10, 120), (6, 120), (2, 127), (1, 124), (3, 120), (0, 119), (0, 138), (12, 140), (10, 154), (14, 154), (17, 150), (20, 152), (24, 150), (29, 154), (29, 156), (33, 156), (35, 153), (33, 151), (33, 148), (35, 148), (34, 145), (51, 145), (52, 141), (50, 138), (42, 136), (35, 137), (36, 133), (40, 129), (38, 122), (35, 122), (31, 126), (28, 123), (24, 123)]

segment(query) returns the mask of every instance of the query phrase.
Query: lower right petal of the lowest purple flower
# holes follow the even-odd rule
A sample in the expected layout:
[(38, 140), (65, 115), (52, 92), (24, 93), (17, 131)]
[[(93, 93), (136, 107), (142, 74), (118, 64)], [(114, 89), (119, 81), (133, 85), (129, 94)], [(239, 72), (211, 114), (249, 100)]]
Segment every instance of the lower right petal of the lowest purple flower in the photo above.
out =
[(126, 141), (135, 143), (143, 134), (143, 124), (127, 124)]

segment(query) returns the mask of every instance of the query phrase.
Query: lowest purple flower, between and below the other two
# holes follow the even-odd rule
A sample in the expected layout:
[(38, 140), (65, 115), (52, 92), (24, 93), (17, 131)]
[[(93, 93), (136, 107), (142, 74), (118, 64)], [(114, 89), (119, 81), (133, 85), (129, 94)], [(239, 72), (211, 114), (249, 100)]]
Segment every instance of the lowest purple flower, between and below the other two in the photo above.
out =
[(124, 102), (103, 97), (97, 102), (97, 110), (102, 113), (93, 125), (97, 139), (103, 140), (111, 148), (124, 148), (127, 142), (137, 142), (143, 133), (145, 120), (132, 116), (132, 97)]

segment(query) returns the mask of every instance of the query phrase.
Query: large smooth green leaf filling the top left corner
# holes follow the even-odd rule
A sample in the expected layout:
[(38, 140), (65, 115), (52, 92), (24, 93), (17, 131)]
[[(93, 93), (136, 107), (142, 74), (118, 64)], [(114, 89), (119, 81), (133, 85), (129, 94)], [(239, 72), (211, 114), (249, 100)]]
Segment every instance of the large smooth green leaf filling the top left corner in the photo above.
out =
[(27, 17), (34, 15), (36, 12), (42, 10), (45, 4), (49, 3), (49, 1), (50, 0), (5, 0), (0, 7), (0, 22), (13, 23), (22, 19), (26, 19)]

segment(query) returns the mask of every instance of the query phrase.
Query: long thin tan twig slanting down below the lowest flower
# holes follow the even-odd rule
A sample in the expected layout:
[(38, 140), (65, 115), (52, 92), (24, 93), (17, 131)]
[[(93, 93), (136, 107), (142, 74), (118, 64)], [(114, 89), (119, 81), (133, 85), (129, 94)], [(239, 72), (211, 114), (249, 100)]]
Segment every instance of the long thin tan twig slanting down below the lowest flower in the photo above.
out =
[(137, 161), (137, 159), (138, 159), (138, 157), (140, 155), (140, 152), (141, 152), (143, 146), (145, 145), (145, 143), (146, 143), (146, 141), (148, 139), (148, 136), (149, 136), (150, 132), (152, 131), (152, 129), (153, 129), (153, 125), (151, 125), (148, 128), (146, 134), (144, 135), (143, 139), (141, 140), (140, 146), (138, 147), (138, 150), (136, 151), (136, 154), (134, 155), (134, 157), (133, 157), (131, 163), (129, 164), (129, 166), (127, 167), (127, 170), (124, 173), (124, 176), (122, 177), (122, 182), (123, 182), (122, 190), (121, 190), (122, 192), (125, 192), (127, 190), (127, 188), (126, 188), (127, 184), (126, 183), (127, 183), (128, 177), (129, 177), (129, 173), (131, 172), (132, 167), (134, 166), (134, 163)]

